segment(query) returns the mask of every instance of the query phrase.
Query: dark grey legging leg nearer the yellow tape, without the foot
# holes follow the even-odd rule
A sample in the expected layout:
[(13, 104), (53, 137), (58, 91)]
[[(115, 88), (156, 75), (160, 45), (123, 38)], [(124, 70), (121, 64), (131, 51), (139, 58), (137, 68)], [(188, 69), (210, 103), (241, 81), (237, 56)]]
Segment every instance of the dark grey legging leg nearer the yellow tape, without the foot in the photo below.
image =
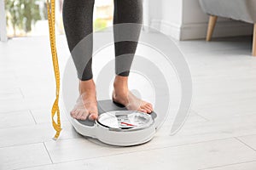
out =
[[(93, 31), (94, 2), (95, 0), (64, 0), (63, 24), (70, 52)], [(90, 40), (86, 41), (87, 44), (84, 49), (76, 48), (76, 53), (72, 55), (78, 77), (82, 81), (92, 78), (92, 36), (89, 38)], [(83, 42), (85, 41), (83, 40)], [(86, 65), (82, 65), (84, 60), (88, 60)]]

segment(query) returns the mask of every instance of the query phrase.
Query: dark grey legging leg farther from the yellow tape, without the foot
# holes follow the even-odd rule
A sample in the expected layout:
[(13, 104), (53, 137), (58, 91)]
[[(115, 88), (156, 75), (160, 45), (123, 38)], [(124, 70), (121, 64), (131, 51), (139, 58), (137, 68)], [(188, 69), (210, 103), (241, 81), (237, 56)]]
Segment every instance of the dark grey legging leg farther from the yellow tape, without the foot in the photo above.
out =
[(116, 75), (129, 76), (132, 59), (137, 49), (137, 42), (118, 41), (124, 32), (129, 32), (129, 37), (138, 40), (142, 22), (143, 0), (114, 0), (113, 25), (117, 25), (113, 26)]

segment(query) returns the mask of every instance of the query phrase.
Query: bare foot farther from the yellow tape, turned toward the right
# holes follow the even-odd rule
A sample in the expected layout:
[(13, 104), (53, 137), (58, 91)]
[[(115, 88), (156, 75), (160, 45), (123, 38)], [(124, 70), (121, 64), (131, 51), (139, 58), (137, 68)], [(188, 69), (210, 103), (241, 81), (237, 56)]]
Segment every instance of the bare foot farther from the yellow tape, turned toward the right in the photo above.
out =
[(115, 77), (113, 82), (113, 101), (125, 105), (126, 109), (130, 111), (151, 113), (153, 111), (153, 106), (142, 99), (138, 99), (132, 94), (129, 91), (127, 82), (128, 77)]

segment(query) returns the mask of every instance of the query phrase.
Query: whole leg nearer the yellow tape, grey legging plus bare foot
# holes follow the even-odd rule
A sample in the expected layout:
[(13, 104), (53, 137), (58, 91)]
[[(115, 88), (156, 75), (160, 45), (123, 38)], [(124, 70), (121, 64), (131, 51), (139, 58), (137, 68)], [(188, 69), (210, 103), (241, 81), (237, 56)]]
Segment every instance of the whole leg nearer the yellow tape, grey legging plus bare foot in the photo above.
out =
[[(96, 119), (96, 87), (92, 80), (92, 36), (94, 0), (64, 0), (63, 23), (68, 48), (79, 77), (80, 96), (71, 115), (73, 118)], [(89, 38), (84, 41), (84, 37)], [(83, 40), (83, 48), (76, 48)], [(75, 48), (75, 50), (73, 50)], [(75, 51), (75, 53), (73, 53)]]

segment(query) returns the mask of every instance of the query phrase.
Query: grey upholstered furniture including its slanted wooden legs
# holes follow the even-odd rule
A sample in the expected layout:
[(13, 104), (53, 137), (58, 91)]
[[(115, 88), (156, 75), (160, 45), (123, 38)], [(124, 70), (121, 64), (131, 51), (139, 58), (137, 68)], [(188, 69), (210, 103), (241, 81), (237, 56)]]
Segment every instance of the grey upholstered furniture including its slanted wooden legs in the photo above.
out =
[(200, 0), (200, 3), (203, 11), (210, 14), (207, 41), (212, 38), (218, 16), (252, 23), (253, 56), (256, 56), (256, 0)]

